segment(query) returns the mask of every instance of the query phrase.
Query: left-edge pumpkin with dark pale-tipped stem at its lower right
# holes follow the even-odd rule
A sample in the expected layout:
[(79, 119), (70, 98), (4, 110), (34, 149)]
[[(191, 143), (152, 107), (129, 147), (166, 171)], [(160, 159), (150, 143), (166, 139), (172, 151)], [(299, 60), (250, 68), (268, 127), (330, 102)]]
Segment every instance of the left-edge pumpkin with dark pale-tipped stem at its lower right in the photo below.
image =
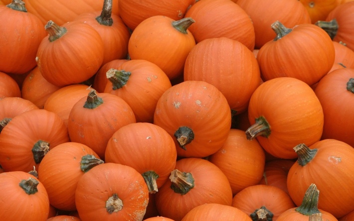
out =
[[(68, 130), (57, 114), (41, 109), (25, 111), (13, 117), (0, 133), (0, 165), (5, 171), (31, 171), (33, 166), (38, 168), (42, 154), (69, 140)], [(36, 148), (41, 141), (47, 144)]]

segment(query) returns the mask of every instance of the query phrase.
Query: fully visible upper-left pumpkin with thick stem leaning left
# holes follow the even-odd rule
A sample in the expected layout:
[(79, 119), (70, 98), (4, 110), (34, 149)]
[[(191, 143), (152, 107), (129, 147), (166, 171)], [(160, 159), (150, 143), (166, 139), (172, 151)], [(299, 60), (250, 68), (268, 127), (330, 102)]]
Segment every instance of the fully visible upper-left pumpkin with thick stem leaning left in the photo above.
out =
[(104, 44), (91, 25), (72, 21), (59, 26), (49, 20), (45, 30), (48, 36), (40, 42), (35, 60), (49, 83), (59, 87), (78, 84), (101, 67)]

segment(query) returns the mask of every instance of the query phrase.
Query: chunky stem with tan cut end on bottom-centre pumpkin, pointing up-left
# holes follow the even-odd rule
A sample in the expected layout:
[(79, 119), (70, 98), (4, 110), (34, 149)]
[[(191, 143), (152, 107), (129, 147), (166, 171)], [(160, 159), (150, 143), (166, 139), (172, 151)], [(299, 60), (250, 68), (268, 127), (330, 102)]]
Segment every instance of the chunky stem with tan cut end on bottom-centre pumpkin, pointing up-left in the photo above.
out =
[(172, 182), (171, 189), (180, 195), (188, 193), (194, 187), (194, 178), (191, 173), (175, 169), (171, 172), (170, 180)]

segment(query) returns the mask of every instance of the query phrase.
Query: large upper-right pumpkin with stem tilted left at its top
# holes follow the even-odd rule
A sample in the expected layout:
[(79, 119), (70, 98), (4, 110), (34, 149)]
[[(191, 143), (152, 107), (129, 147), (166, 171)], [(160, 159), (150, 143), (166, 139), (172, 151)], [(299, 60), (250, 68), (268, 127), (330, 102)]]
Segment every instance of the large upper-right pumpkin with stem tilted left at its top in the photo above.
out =
[(277, 36), (264, 44), (257, 54), (265, 81), (292, 77), (313, 85), (332, 68), (335, 49), (323, 29), (314, 24), (287, 28), (280, 21), (275, 21), (272, 29)]

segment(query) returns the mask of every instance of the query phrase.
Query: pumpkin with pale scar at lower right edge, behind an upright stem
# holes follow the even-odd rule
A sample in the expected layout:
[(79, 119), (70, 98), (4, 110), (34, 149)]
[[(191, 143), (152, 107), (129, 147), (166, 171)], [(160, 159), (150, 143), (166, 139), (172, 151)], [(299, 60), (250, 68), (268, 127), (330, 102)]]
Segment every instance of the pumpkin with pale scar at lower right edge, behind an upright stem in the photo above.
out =
[[(299, 158), (288, 173), (288, 191), (299, 206), (311, 183), (321, 190), (318, 207), (336, 218), (354, 210), (354, 148), (335, 139), (294, 147)], [(311, 175), (310, 175), (311, 174)], [(337, 190), (337, 191), (333, 191)]]

